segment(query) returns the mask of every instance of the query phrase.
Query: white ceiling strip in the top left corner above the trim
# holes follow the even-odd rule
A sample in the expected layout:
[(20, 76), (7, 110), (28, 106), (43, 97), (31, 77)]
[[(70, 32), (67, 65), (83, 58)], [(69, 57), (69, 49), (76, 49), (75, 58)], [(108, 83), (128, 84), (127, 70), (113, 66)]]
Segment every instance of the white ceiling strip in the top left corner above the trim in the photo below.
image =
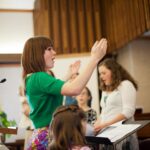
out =
[(35, 0), (0, 0), (0, 9), (33, 9)]

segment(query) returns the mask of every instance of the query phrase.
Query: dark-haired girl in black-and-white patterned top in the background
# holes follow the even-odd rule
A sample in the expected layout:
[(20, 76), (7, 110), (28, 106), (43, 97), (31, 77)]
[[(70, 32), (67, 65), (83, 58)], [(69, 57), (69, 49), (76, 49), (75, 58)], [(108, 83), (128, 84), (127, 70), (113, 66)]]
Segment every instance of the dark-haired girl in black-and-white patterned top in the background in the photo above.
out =
[(85, 87), (82, 92), (76, 96), (78, 106), (83, 109), (87, 116), (87, 123), (93, 125), (97, 120), (97, 113), (91, 108), (92, 94), (88, 87)]

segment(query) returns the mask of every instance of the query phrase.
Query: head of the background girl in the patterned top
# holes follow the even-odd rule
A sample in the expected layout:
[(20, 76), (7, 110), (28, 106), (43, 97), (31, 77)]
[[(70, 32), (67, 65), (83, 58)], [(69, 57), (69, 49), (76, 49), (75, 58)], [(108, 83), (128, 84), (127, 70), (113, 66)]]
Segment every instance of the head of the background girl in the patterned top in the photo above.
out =
[(76, 96), (76, 100), (78, 101), (79, 106), (87, 104), (91, 107), (92, 94), (88, 87), (85, 87), (82, 92)]

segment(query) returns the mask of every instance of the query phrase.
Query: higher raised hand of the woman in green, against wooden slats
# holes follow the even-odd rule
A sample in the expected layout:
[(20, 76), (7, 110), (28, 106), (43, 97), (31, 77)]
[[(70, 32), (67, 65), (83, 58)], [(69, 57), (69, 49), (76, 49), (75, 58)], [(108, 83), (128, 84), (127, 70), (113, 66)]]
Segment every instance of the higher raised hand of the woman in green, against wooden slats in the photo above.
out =
[(107, 40), (102, 38), (100, 41), (96, 41), (91, 49), (91, 56), (96, 61), (101, 60), (107, 51)]

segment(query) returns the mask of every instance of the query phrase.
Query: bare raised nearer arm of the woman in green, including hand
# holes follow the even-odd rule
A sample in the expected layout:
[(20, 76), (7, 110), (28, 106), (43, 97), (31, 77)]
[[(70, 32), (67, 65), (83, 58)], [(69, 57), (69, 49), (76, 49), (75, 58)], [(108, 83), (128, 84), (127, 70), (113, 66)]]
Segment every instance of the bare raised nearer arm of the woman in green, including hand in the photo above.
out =
[(66, 82), (62, 89), (62, 95), (78, 95), (87, 84), (99, 60), (106, 54), (107, 41), (101, 39), (97, 41), (91, 50), (90, 60), (85, 69), (72, 82)]

